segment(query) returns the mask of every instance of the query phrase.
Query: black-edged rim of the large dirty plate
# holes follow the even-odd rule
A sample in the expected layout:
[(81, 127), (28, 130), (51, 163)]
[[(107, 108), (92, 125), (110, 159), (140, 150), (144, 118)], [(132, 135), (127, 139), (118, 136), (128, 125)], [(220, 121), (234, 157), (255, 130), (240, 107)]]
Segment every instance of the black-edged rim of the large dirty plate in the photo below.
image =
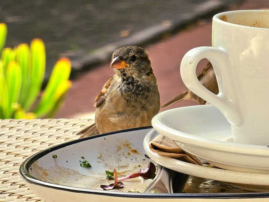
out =
[(106, 195), (106, 196), (113, 196), (113, 197), (128, 197), (128, 198), (201, 198), (201, 199), (220, 199), (220, 198), (225, 198), (225, 199), (236, 199), (236, 198), (267, 198), (269, 197), (269, 193), (210, 193), (210, 194), (144, 194), (144, 193), (130, 193), (130, 192), (113, 192), (113, 191), (106, 191), (106, 190), (93, 190), (93, 189), (86, 189), (86, 188), (79, 188), (79, 187), (71, 187), (71, 186), (66, 186), (66, 185), (58, 185), (54, 183), (49, 183), (45, 182), (39, 179), (36, 179), (35, 177), (31, 176), (29, 173), (29, 169), (31, 165), (38, 159), (40, 159), (42, 156), (45, 156), (46, 154), (55, 151), (57, 149), (76, 144), (78, 142), (83, 142), (86, 140), (98, 138), (98, 137), (104, 137), (108, 135), (114, 135), (118, 133), (124, 133), (124, 132), (131, 132), (131, 131), (138, 131), (138, 130), (145, 130), (145, 129), (150, 129), (153, 128), (152, 126), (147, 126), (147, 127), (139, 127), (139, 128), (131, 128), (131, 129), (126, 129), (126, 130), (121, 130), (121, 131), (115, 131), (115, 132), (108, 132), (100, 135), (95, 135), (83, 139), (77, 139), (69, 142), (64, 142), (59, 145), (47, 148), (43, 151), (40, 151), (29, 158), (27, 158), (20, 166), (20, 175), (25, 180), (26, 182), (33, 184), (33, 185), (38, 185), (38, 186), (43, 186), (46, 188), (51, 188), (51, 189), (57, 189), (57, 190), (64, 190), (68, 192), (76, 192), (76, 193), (84, 193), (84, 194), (95, 194), (95, 195)]

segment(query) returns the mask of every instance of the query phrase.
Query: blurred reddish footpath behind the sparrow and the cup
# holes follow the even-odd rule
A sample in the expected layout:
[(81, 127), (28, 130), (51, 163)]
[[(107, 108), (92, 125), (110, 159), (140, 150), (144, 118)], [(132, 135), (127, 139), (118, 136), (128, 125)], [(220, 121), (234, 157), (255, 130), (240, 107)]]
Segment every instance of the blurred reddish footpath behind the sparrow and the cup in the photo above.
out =
[[(226, 11), (243, 9), (269, 9), (269, 3), (268, 0), (248, 0), (242, 5), (231, 6)], [(161, 41), (143, 47), (149, 51), (153, 71), (158, 79), (161, 104), (186, 90), (179, 73), (182, 57), (192, 48), (211, 46), (211, 19), (212, 17), (208, 20), (198, 20), (176, 35), (165, 36)], [(206, 63), (206, 60), (202, 60), (197, 67), (197, 72), (201, 71)], [(101, 65), (73, 81), (72, 88), (66, 96), (65, 105), (55, 118), (89, 118), (93, 116), (94, 99), (106, 80), (114, 74), (113, 69), (109, 66), (109, 63)], [(191, 101), (182, 101), (161, 109), (161, 111), (195, 104)]]

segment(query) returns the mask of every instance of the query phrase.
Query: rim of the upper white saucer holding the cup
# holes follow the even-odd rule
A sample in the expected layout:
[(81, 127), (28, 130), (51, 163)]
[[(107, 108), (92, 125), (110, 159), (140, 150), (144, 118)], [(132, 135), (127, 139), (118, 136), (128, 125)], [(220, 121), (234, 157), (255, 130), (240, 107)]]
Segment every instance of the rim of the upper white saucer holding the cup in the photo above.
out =
[(167, 115), (171, 111), (180, 111), (180, 110), (186, 110), (186, 109), (193, 111), (193, 110), (199, 110), (200, 108), (210, 109), (210, 108), (215, 108), (215, 107), (211, 104), (207, 104), (207, 105), (194, 105), (194, 106), (169, 109), (155, 115), (151, 122), (152, 126), (157, 132), (180, 143), (186, 143), (186, 144), (195, 145), (195, 146), (199, 146), (203, 148), (210, 148), (212, 150), (217, 149), (219, 151), (225, 151), (229, 153), (248, 154), (248, 155), (253, 155), (253, 156), (259, 155), (259, 156), (269, 157), (269, 148), (267, 146), (225, 142), (225, 141), (216, 140), (216, 139), (199, 137), (199, 135), (191, 135), (185, 132), (180, 132), (176, 129), (172, 129), (171, 127), (168, 127), (162, 121), (163, 115)]

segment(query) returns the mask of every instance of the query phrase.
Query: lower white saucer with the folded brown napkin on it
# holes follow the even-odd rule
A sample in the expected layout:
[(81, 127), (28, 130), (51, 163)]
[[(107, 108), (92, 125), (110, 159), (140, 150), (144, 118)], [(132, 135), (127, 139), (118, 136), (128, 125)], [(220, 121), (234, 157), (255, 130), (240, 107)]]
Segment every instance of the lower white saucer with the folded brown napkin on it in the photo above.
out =
[(223, 170), (195, 165), (167, 156), (158, 155), (152, 152), (149, 148), (150, 141), (157, 135), (158, 133), (155, 130), (151, 130), (146, 135), (143, 142), (146, 154), (156, 163), (174, 171), (196, 177), (227, 182), (227, 184), (231, 186), (243, 188), (245, 190), (261, 192), (269, 191), (269, 174)]

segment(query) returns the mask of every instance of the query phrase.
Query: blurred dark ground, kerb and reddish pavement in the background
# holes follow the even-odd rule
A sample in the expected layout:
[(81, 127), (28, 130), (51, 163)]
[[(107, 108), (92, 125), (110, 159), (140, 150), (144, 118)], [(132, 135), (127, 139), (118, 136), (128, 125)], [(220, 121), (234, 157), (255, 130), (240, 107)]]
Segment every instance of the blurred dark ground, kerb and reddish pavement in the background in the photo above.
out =
[[(183, 55), (197, 46), (211, 46), (214, 14), (268, 9), (269, 2), (2, 0), (0, 8), (0, 22), (8, 26), (6, 46), (30, 43), (37, 37), (45, 42), (46, 78), (60, 56), (72, 61), (72, 88), (55, 118), (89, 118), (94, 116), (95, 96), (114, 74), (109, 60), (117, 48), (138, 45), (149, 51), (163, 104), (186, 90), (179, 73)], [(202, 60), (197, 72), (206, 63)], [(168, 108), (194, 104), (182, 101)]]

